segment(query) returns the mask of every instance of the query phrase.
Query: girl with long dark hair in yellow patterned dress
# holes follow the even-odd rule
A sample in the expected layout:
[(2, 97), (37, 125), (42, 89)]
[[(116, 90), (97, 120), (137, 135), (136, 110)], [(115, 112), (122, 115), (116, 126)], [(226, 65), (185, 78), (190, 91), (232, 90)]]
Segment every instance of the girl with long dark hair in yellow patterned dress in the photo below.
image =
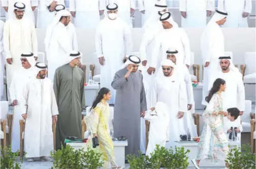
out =
[(109, 101), (111, 98), (110, 90), (107, 88), (102, 88), (98, 93), (97, 98), (92, 103), (92, 122), (91, 129), (93, 137), (98, 137), (99, 146), (103, 153), (103, 160), (105, 161), (105, 167), (108, 167), (109, 162), (111, 163), (112, 168), (119, 169), (124, 168), (117, 166), (114, 156), (114, 146), (112, 139), (108, 130), (108, 121), (109, 121)]

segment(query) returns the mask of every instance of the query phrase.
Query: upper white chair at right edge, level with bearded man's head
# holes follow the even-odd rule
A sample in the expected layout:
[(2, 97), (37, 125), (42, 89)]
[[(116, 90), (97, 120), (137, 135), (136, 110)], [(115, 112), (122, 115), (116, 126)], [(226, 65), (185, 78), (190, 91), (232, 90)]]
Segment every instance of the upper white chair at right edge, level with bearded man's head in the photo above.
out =
[(256, 80), (256, 53), (255, 52), (246, 52), (244, 56), (245, 70), (243, 81), (245, 84), (255, 84)]

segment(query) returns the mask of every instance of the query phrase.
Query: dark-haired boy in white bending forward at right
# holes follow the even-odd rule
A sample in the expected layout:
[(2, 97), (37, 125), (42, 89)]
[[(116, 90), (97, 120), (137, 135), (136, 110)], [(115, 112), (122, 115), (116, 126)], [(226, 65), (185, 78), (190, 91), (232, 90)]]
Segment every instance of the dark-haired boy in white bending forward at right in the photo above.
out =
[(236, 107), (229, 108), (227, 118), (224, 118), (225, 131), (227, 131), (227, 137), (229, 140), (232, 139), (232, 131), (235, 130), (235, 135), (241, 144), (241, 132), (243, 131), (241, 121), (236, 120), (239, 116), (240, 110)]

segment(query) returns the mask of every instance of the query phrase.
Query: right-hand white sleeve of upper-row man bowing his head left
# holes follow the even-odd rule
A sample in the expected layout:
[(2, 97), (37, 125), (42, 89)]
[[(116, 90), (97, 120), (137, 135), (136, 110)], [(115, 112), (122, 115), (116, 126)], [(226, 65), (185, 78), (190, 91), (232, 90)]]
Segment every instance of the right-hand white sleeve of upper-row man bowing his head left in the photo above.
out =
[(190, 51), (189, 39), (186, 32), (182, 28), (180, 28), (180, 30), (181, 30), (181, 41), (182, 41), (183, 49), (185, 53), (184, 64), (190, 65), (191, 51)]

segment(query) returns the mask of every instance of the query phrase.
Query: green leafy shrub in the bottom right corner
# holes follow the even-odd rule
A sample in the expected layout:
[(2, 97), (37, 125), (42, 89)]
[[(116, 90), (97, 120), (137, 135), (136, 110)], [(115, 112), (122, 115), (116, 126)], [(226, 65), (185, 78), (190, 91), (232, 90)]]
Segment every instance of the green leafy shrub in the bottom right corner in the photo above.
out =
[(230, 148), (230, 152), (225, 162), (229, 162), (230, 169), (251, 169), (255, 168), (255, 154), (251, 153), (250, 145), (243, 145), (241, 147)]

